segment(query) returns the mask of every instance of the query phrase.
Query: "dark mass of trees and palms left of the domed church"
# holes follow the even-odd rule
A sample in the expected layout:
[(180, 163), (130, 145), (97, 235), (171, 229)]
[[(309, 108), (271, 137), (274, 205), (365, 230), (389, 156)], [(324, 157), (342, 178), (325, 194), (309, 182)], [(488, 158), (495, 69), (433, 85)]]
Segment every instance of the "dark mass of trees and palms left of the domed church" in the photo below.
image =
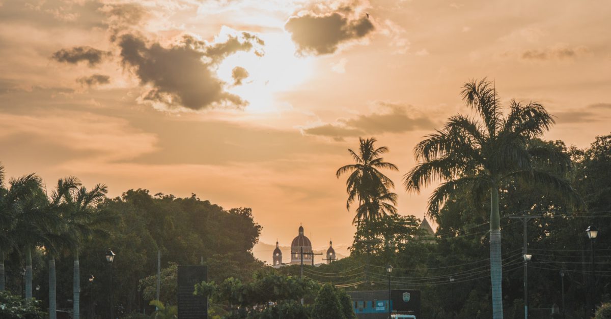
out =
[[(141, 189), (106, 198), (104, 185), (87, 190), (75, 177), (48, 192), (35, 174), (2, 185), (0, 288), (41, 299), (45, 310), (71, 310), (78, 300), (75, 309), (85, 318), (109, 314), (108, 249), (116, 254), (112, 295), (119, 316), (154, 310), (148, 286), (156, 282), (144, 279), (155, 275), (158, 252), (166, 273), (177, 263), (203, 262), (216, 281), (250, 278), (262, 267), (251, 253), (261, 231), (251, 209), (225, 210), (196, 195), (175, 198)], [(175, 304), (175, 296), (160, 299), (168, 298)]]

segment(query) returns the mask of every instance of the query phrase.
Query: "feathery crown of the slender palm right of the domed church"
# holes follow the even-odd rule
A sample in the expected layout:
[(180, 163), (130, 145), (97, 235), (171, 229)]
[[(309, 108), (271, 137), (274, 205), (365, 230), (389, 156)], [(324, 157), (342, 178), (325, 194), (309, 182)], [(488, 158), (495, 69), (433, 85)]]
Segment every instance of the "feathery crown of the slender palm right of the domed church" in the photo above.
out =
[(395, 184), (379, 169), (397, 171), (398, 168), (392, 163), (384, 162), (381, 155), (388, 152), (388, 148), (385, 146), (375, 148), (375, 142), (377, 142), (375, 138), (364, 140), (359, 137), (359, 153), (348, 149), (356, 163), (340, 167), (335, 173), (339, 178), (342, 174), (351, 172), (346, 181), (348, 193), (346, 209), (350, 210), (355, 200), (359, 203), (353, 223), (377, 220), (387, 213), (397, 212), (393, 206), (397, 204), (397, 194), (389, 192)]

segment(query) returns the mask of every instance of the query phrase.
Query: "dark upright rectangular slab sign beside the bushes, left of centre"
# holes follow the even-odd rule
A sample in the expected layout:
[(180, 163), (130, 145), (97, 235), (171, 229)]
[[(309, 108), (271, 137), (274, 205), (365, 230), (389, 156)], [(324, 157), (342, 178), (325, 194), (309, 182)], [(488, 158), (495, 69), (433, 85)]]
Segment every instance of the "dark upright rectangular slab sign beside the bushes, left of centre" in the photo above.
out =
[(207, 319), (207, 296), (195, 296), (195, 285), (208, 280), (203, 265), (178, 265), (178, 319)]

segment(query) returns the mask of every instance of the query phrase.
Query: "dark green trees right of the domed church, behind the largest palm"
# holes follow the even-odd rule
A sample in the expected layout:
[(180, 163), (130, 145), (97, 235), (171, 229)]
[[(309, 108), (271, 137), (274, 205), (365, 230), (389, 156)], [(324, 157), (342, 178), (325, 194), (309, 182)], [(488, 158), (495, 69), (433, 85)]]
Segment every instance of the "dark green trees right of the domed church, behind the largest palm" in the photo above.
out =
[[(563, 312), (566, 318), (590, 318), (590, 304), (611, 301), (611, 135), (596, 137), (586, 149), (547, 143), (571, 160), (568, 179), (584, 205), (528, 182), (500, 185), (504, 318), (524, 318), (524, 224), (513, 215), (541, 216), (527, 223), (531, 318), (562, 318)], [(393, 289), (422, 291), (423, 318), (491, 318), (489, 205), (489, 195), (474, 201), (469, 192), (452, 194), (431, 216), (438, 225), (434, 236), (411, 216), (361, 223), (350, 257), (306, 266), (305, 276), (348, 290), (384, 290), (386, 267), (392, 265)], [(590, 225), (599, 230), (595, 242), (585, 232)], [(296, 266), (280, 271), (299, 274)]]

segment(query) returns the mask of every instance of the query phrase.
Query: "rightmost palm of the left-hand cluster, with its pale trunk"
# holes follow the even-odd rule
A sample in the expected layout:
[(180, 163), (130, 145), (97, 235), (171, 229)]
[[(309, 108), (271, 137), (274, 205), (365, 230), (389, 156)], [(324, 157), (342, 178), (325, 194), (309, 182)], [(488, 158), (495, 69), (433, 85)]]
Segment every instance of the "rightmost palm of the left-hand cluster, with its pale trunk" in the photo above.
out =
[[(57, 181), (56, 191), (51, 196), (52, 204), (59, 208), (59, 217), (65, 223), (64, 237), (69, 239), (74, 256), (73, 263), (73, 318), (80, 317), (81, 281), (79, 247), (90, 238), (108, 218), (95, 210), (95, 206), (106, 198), (108, 188), (98, 184), (92, 190), (82, 186), (74, 176)], [(50, 299), (49, 299), (50, 302)]]

